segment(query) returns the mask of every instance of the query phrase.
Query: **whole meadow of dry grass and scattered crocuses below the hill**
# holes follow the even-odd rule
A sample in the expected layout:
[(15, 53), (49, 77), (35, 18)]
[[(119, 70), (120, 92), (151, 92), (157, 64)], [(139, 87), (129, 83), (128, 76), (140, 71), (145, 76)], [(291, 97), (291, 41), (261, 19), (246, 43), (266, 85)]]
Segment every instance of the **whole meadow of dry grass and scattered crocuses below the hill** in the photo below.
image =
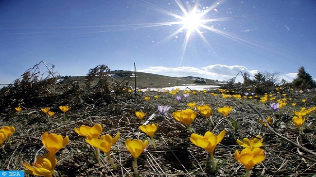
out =
[[(224, 85), (214, 90), (157, 91), (151, 88), (186, 83), (178, 78), (169, 78), (178, 80), (175, 82), (161, 81), (165, 76), (146, 82), (144, 78), (151, 74), (136, 73), (136, 84), (135, 78), (129, 76), (105, 74), (108, 68), (104, 66), (91, 69), (80, 80), (58, 83), (59, 78), (53, 74), (40, 78), (33, 71), (25, 72), (22, 79), (0, 91), (0, 125), (15, 128), (2, 141), (0, 170), (26, 170), (27, 163), (59, 177), (316, 177), (315, 89), (288, 85), (270, 85), (266, 89), (263, 83)], [(162, 106), (160, 110), (158, 105)], [(161, 113), (167, 105), (169, 110)], [(221, 108), (231, 110), (224, 113)], [(140, 129), (152, 124), (158, 129), (151, 136)], [(96, 125), (102, 129), (86, 127), (79, 131), (81, 126)], [(218, 142), (204, 136), (208, 131)], [(221, 132), (225, 133), (223, 138), (219, 138)], [(194, 139), (198, 135), (204, 140)], [(128, 139), (147, 140), (148, 144), (144, 149), (130, 146), (134, 148), (130, 152)], [(90, 145), (99, 140), (104, 141), (100, 146), (110, 148), (109, 152)], [(248, 147), (263, 150), (263, 161), (251, 153), (246, 160), (237, 161), (236, 150), (240, 153)], [(95, 153), (98, 149), (100, 158)], [(135, 158), (135, 153), (139, 157)], [(44, 158), (55, 158), (56, 162), (50, 160), (47, 167)], [(248, 158), (254, 163), (251, 170), (245, 169), (249, 167), (250, 162), (244, 164)], [(44, 174), (44, 170), (38, 173)]]

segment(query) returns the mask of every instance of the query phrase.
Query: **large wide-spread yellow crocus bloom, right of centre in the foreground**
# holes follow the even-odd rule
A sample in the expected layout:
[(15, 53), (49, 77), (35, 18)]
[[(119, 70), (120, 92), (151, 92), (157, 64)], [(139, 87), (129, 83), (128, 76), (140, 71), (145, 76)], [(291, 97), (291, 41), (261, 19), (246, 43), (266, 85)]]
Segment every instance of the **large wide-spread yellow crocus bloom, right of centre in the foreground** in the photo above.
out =
[(190, 141), (199, 147), (202, 147), (206, 151), (208, 151), (210, 154), (213, 154), (216, 145), (219, 144), (219, 142), (222, 141), (226, 133), (226, 130), (224, 129), (222, 132), (220, 132), (218, 135), (215, 135), (211, 131), (207, 131), (204, 136), (201, 136), (196, 133), (192, 133), (190, 136)]

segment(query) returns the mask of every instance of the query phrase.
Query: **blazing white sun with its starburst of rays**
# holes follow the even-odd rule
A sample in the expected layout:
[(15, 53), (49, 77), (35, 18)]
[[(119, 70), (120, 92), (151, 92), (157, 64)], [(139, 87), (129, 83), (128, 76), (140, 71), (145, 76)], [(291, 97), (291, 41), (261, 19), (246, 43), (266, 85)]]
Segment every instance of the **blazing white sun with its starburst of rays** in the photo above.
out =
[[(193, 34), (196, 34), (204, 41), (204, 43), (211, 48), (210, 43), (205, 38), (206, 32), (214, 32), (222, 36), (229, 36), (227, 33), (214, 28), (215, 22), (228, 20), (228, 18), (213, 18), (214, 14), (218, 13), (216, 7), (222, 3), (223, 0), (217, 0), (209, 6), (203, 6), (199, 0), (192, 1), (193, 3), (181, 3), (180, 0), (175, 0), (177, 7), (180, 10), (166, 10), (157, 6), (147, 4), (156, 11), (171, 16), (174, 20), (170, 22), (161, 22), (148, 25), (147, 27), (155, 26), (172, 26), (177, 27), (174, 32), (171, 32), (165, 40), (172, 38), (179, 38), (181, 34), (185, 34), (181, 46), (180, 63), (182, 62), (188, 43), (193, 39)], [(194, 35), (195, 37), (195, 35)]]

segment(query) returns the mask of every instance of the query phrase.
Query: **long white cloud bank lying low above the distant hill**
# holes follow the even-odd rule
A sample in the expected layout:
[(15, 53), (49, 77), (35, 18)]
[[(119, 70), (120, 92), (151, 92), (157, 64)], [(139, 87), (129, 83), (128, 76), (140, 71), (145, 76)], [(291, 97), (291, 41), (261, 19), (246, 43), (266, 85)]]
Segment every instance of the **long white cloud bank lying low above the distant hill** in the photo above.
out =
[[(146, 69), (140, 69), (139, 72), (160, 74), (172, 77), (186, 77), (194, 76), (207, 78), (211, 80), (229, 80), (239, 72), (248, 73), (251, 77), (258, 73), (258, 70), (248, 70), (247, 67), (241, 65), (224, 65), (214, 64), (202, 67), (202, 69), (191, 67), (191, 66), (180, 66), (180, 67), (164, 67), (164, 66), (150, 66)], [(292, 81), (296, 77), (297, 73), (288, 73), (280, 76), (280, 79)], [(236, 81), (243, 81), (242, 75), (238, 74)]]

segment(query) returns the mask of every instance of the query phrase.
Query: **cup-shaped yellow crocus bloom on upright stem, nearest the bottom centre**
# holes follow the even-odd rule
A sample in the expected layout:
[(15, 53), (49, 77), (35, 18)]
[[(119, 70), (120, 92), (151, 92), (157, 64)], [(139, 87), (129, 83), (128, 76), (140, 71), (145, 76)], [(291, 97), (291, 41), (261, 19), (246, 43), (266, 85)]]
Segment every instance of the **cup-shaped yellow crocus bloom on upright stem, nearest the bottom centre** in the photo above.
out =
[(142, 142), (141, 140), (138, 140), (138, 139), (134, 139), (132, 141), (131, 139), (128, 138), (125, 142), (125, 145), (127, 149), (129, 150), (129, 152), (134, 157), (134, 159), (137, 159), (142, 153), (142, 151), (148, 145), (148, 140), (145, 140), (144, 142)]

